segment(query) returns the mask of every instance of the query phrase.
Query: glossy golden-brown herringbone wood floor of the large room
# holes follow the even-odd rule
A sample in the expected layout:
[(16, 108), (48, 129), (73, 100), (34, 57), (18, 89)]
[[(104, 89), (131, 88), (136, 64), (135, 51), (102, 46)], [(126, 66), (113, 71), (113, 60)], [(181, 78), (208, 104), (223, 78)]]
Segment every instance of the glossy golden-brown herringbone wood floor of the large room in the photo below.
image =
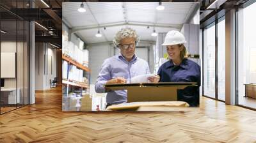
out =
[(62, 112), (61, 88), (0, 116), (0, 142), (256, 142), (256, 112), (201, 98), (198, 112)]

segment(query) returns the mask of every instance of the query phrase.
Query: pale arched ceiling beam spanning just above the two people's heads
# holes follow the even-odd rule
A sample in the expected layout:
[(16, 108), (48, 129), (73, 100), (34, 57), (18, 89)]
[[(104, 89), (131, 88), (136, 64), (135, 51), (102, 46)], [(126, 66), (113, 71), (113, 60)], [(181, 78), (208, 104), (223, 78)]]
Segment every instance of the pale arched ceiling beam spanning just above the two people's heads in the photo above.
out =
[(164, 27), (164, 28), (172, 28), (172, 29), (180, 29), (182, 27), (181, 24), (154, 24), (149, 22), (113, 22), (108, 24), (101, 25), (92, 25), (92, 26), (81, 26), (81, 27), (72, 27), (71, 33), (76, 33), (77, 31), (83, 31), (88, 29), (98, 29), (103, 27), (115, 27), (115, 26), (150, 26), (150, 27)]

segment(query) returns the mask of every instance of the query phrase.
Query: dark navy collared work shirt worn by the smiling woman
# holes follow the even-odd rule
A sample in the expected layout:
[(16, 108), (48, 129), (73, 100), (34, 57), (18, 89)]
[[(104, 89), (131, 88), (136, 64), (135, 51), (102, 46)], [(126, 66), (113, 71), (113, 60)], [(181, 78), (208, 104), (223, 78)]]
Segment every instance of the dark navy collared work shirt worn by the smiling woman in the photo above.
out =
[(197, 82), (197, 87), (177, 90), (178, 100), (189, 103), (191, 107), (199, 105), (200, 66), (190, 59), (183, 59), (179, 66), (173, 61), (162, 64), (157, 72), (159, 82)]

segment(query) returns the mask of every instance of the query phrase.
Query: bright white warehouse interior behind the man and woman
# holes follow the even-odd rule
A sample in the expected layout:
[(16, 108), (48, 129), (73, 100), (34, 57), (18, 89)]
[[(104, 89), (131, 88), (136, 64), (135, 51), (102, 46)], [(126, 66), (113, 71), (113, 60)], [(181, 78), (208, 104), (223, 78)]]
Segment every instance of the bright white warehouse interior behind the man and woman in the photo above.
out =
[[(105, 109), (106, 93), (96, 93), (94, 84), (103, 61), (120, 54), (120, 49), (113, 45), (112, 40), (115, 33), (124, 27), (135, 29), (140, 36), (140, 42), (135, 50), (136, 56), (148, 62), (151, 73), (156, 74), (159, 66), (167, 61), (164, 58), (167, 55), (166, 47), (161, 44), (168, 31), (182, 31), (188, 41), (185, 46), (188, 47), (189, 54), (199, 55), (199, 3), (163, 2), (165, 9), (159, 11), (156, 10), (159, 5), (157, 2), (86, 2), (83, 3), (86, 11), (79, 12), (77, 7), (79, 8), (81, 4), (63, 3), (62, 26), (65, 34), (63, 34), (62, 52), (65, 56), (88, 67), (88, 70), (84, 71), (88, 76), (83, 77), (83, 74), (79, 74), (83, 70), (68, 64), (68, 60), (63, 61), (62, 75), (64, 82), (90, 84), (90, 92), (86, 87), (77, 88), (67, 82), (63, 88), (63, 110), (95, 111), (97, 105), (100, 110)], [(97, 36), (97, 33), (101, 36)], [(192, 60), (199, 65), (201, 63), (200, 59)], [(83, 78), (86, 80), (84, 81)], [(78, 100), (81, 100), (80, 105), (77, 105)], [(79, 106), (80, 109), (76, 108)]]

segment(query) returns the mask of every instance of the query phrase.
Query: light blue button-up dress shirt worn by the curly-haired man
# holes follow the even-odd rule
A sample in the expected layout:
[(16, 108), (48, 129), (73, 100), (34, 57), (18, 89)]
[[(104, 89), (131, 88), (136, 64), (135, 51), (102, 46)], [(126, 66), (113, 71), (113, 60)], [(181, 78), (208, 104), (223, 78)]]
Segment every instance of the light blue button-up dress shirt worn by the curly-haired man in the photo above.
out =
[[(136, 57), (132, 57), (131, 61), (127, 61), (121, 54), (119, 56), (109, 57), (104, 61), (95, 83), (95, 91), (97, 93), (106, 93), (104, 85), (108, 80), (116, 77), (124, 77), (127, 83), (131, 82), (131, 78), (137, 75), (150, 73), (147, 61)], [(109, 91), (107, 94), (107, 103), (118, 104), (127, 102), (127, 91)]]

